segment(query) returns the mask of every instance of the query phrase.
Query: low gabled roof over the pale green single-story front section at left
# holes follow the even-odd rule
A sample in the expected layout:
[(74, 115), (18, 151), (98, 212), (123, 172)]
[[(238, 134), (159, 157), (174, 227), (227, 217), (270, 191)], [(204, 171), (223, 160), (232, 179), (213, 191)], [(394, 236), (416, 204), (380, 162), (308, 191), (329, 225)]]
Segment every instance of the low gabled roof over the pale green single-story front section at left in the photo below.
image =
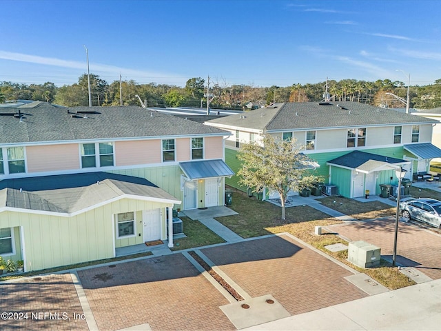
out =
[(178, 203), (178, 199), (147, 179), (90, 172), (0, 181), (0, 208), (71, 213), (124, 194)]

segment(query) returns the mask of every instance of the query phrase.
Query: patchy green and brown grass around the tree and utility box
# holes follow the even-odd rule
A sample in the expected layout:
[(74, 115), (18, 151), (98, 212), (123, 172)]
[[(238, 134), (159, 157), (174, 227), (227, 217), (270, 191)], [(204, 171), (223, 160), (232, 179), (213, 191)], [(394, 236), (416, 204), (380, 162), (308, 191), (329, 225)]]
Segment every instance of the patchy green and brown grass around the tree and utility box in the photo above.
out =
[[(350, 214), (357, 219), (384, 217), (394, 214), (393, 208), (378, 201), (362, 203), (337, 197), (322, 198), (320, 201), (329, 208), (340, 210), (340, 212)], [(334, 203), (334, 201), (336, 202)], [(378, 268), (358, 268), (347, 261), (347, 250), (330, 252), (325, 249), (325, 245), (333, 243), (348, 245), (348, 242), (332, 233), (323, 233), (321, 236), (316, 236), (314, 228), (316, 225), (325, 226), (342, 223), (342, 221), (329, 217), (329, 215), (307, 205), (287, 208), (287, 219), (281, 221), (280, 207), (269, 202), (258, 201), (255, 197), (249, 198), (247, 194), (234, 190), (233, 203), (229, 207), (239, 214), (218, 217), (217, 220), (241, 237), (249, 238), (264, 234), (288, 232), (342, 263), (350, 265), (351, 268), (369, 274), (370, 277), (391, 290), (415, 284), (413, 281), (409, 281), (409, 278), (399, 272), (397, 268), (391, 268), (387, 261), (381, 260)]]

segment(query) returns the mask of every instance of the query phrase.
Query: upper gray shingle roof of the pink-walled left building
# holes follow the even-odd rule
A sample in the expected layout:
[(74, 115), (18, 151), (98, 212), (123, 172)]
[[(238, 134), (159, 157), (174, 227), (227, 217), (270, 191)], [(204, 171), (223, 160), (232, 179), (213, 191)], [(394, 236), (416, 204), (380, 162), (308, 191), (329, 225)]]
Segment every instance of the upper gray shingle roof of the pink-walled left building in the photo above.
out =
[(13, 116), (19, 112), (17, 108), (3, 108), (0, 112), (0, 143), (227, 134), (218, 128), (137, 106), (55, 108), (41, 104), (21, 108), (22, 122)]

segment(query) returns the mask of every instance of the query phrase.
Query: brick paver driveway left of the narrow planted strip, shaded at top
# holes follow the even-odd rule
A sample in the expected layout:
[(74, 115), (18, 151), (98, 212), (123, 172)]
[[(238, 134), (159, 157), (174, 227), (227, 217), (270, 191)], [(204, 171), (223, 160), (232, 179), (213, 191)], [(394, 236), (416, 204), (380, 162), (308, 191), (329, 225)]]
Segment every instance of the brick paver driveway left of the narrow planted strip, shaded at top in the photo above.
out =
[(100, 330), (149, 323), (152, 330), (236, 330), (229, 303), (183, 254), (78, 272)]

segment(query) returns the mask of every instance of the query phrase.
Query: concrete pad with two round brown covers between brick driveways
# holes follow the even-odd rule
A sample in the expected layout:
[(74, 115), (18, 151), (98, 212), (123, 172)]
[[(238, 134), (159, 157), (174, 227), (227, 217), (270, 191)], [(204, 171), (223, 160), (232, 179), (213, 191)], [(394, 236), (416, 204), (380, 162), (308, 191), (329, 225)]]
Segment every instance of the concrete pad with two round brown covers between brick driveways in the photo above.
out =
[[(267, 301), (272, 301), (273, 303), (268, 303)], [(243, 305), (248, 305), (249, 308), (245, 309)], [(220, 309), (239, 330), (291, 316), (283, 308), (283, 305), (280, 305), (270, 294), (238, 301), (229, 305), (222, 305)]]

